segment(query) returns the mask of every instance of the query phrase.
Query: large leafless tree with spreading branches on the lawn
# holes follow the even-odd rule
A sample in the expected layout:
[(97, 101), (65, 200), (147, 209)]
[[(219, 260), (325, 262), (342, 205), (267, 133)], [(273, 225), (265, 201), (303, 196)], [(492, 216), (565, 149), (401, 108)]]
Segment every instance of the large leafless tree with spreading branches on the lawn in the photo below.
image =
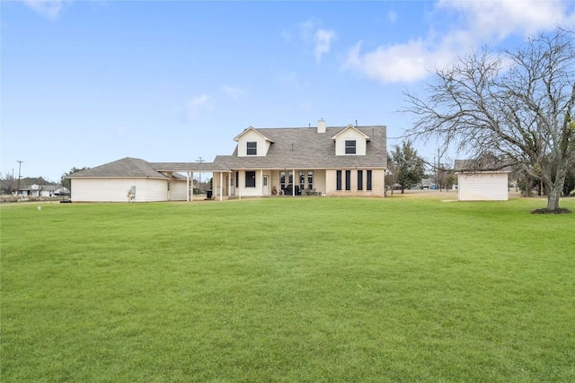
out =
[[(557, 29), (526, 39), (515, 51), (483, 48), (436, 69), (428, 99), (404, 93), (416, 117), (408, 136), (437, 138), (475, 158), (486, 153), (541, 179), (547, 211), (558, 211), (575, 163), (575, 40)], [(495, 170), (495, 169), (493, 169)]]

